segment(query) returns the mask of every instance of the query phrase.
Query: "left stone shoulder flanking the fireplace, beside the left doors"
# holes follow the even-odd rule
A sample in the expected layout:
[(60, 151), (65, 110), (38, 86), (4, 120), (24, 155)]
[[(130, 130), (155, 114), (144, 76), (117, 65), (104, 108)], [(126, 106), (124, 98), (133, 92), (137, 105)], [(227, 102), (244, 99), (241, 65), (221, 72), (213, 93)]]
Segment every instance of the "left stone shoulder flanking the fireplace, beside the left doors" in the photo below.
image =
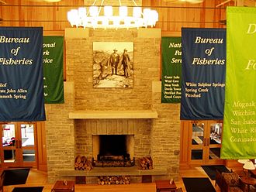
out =
[(48, 180), (56, 180), (58, 170), (74, 164), (74, 120), (68, 112), (74, 108), (74, 83), (64, 82), (64, 104), (46, 105), (47, 173)]

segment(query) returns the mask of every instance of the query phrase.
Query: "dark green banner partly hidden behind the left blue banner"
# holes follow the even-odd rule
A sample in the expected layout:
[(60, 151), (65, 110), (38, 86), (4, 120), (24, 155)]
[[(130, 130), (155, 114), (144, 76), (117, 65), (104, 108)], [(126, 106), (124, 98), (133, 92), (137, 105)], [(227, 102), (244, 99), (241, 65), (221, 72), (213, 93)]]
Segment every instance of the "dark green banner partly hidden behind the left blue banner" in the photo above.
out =
[(44, 103), (64, 103), (63, 36), (43, 36)]

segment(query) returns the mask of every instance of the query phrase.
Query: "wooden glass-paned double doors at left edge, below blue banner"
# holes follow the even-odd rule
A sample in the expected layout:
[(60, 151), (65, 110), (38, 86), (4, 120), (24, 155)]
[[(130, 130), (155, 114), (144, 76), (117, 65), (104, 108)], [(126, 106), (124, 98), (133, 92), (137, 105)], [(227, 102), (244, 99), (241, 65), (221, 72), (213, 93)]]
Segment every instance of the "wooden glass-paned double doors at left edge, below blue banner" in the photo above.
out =
[(0, 129), (2, 166), (36, 166), (36, 123), (1, 123)]

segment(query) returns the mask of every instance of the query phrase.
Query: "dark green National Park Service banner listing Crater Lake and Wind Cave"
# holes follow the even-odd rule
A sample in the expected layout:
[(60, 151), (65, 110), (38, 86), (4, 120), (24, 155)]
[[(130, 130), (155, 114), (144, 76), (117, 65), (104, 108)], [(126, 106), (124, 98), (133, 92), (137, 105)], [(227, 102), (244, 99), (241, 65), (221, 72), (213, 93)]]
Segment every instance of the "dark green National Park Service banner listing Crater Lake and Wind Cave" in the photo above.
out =
[(179, 103), (182, 98), (182, 37), (162, 37), (161, 102)]

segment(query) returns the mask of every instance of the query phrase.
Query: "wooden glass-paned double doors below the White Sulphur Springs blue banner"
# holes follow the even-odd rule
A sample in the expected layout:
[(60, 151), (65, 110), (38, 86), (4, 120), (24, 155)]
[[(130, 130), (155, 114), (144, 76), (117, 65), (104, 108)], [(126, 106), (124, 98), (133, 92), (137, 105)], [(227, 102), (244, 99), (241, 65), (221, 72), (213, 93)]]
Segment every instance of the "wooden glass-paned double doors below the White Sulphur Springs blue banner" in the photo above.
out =
[(222, 165), (220, 159), (223, 122), (182, 121), (181, 165)]

